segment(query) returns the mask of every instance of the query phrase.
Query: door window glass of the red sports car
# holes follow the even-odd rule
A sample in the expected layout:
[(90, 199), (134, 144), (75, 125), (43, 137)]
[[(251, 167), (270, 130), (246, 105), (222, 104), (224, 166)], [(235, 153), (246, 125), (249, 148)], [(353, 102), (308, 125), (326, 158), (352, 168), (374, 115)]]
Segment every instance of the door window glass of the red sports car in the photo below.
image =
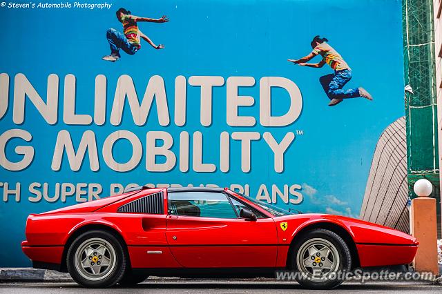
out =
[(169, 214), (191, 217), (236, 219), (237, 215), (224, 193), (169, 192)]

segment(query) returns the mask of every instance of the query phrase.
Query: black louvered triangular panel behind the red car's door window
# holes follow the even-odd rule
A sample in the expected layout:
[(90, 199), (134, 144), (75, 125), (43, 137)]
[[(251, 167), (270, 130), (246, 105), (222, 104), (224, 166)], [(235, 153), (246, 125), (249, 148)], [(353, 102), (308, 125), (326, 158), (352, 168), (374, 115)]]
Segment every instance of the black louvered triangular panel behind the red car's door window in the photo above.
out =
[(149, 213), (153, 215), (164, 214), (164, 197), (163, 193), (155, 193), (144, 196), (133, 202), (129, 202), (120, 206), (117, 210), (119, 213)]

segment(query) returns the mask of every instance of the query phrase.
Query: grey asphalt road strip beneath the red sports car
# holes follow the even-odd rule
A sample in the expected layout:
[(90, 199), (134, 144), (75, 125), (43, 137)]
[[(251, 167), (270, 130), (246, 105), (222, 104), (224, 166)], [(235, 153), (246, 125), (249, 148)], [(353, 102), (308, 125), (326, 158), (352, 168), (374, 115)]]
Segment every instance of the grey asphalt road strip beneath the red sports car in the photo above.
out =
[[(106, 290), (85, 289), (75, 283), (17, 283), (0, 284), (0, 293), (310, 293), (296, 282), (244, 282), (244, 281), (200, 281), (181, 282), (144, 282), (132, 288), (115, 286)], [(324, 291), (316, 291), (321, 293)], [(359, 284), (346, 282), (327, 293), (441, 293), (442, 286), (433, 286), (431, 282), (367, 282)]]

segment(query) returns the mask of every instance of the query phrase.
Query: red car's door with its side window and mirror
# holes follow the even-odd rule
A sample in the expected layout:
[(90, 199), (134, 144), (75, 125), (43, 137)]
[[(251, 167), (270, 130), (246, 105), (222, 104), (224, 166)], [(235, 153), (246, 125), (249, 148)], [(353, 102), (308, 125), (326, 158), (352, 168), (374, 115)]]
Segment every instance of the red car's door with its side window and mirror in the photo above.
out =
[(220, 191), (168, 192), (166, 239), (186, 268), (274, 267), (276, 224), (270, 217), (241, 219)]

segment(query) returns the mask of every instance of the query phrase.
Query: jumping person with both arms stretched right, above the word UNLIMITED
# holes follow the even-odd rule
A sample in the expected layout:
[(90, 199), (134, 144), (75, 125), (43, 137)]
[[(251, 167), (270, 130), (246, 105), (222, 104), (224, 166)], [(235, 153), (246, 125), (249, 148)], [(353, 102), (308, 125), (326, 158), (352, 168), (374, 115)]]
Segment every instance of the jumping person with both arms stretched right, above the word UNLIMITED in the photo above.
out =
[(117, 10), (117, 19), (119, 22), (123, 23), (123, 32), (118, 32), (117, 30), (110, 28), (106, 33), (109, 45), (111, 46), (111, 55), (106, 55), (103, 57), (107, 61), (117, 61), (119, 57), (119, 50), (122, 49), (128, 55), (134, 55), (141, 48), (141, 39), (147, 41), (155, 49), (162, 49), (164, 45), (155, 45), (151, 39), (149, 39), (143, 32), (138, 28), (137, 23), (140, 21), (147, 21), (151, 23), (166, 23), (169, 19), (166, 15), (163, 15), (160, 19), (149, 19), (147, 17), (135, 17), (130, 11), (119, 8)]

